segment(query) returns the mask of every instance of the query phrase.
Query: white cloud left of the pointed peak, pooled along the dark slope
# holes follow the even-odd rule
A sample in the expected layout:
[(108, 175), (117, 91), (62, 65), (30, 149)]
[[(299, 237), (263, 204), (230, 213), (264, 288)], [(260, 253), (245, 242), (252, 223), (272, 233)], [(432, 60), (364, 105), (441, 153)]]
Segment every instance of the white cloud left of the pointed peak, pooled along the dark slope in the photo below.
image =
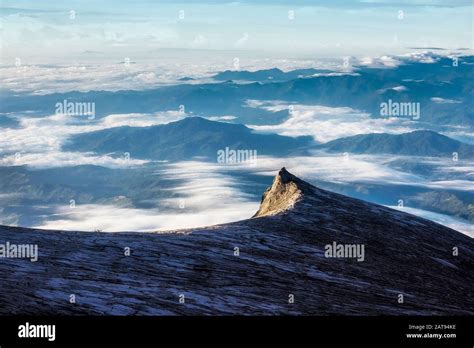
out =
[(184, 180), (170, 188), (176, 198), (160, 201), (163, 209), (134, 209), (114, 205), (57, 207), (53, 219), (37, 228), (116, 231), (157, 231), (209, 226), (250, 218), (259, 202), (241, 192), (241, 181), (221, 171), (227, 168), (202, 162), (164, 166), (160, 177)]

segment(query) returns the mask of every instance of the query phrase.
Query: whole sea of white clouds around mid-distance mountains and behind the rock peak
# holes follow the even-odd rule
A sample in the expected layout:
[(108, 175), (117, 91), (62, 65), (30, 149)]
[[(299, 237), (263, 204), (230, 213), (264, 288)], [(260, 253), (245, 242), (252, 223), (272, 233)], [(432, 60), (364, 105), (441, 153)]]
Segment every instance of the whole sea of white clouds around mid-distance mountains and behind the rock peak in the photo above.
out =
[[(279, 111), (288, 107), (282, 102), (249, 101), (249, 105)], [(109, 168), (130, 168), (149, 163), (148, 160), (113, 158), (94, 153), (64, 152), (62, 144), (73, 134), (94, 130), (133, 126), (146, 127), (179, 120), (188, 115), (176, 111), (155, 114), (113, 114), (93, 122), (87, 118), (77, 118), (64, 114), (37, 117), (31, 114), (14, 115), (20, 122), (18, 128), (0, 129), (0, 166), (26, 165), (32, 169), (75, 166), (81, 164), (99, 165)], [(232, 116), (222, 116), (229, 120)], [(317, 105), (295, 105), (293, 114), (280, 125), (251, 126), (256, 131), (276, 132), (284, 135), (311, 135), (319, 141), (328, 141), (342, 136), (367, 132), (403, 133), (412, 130), (410, 121), (374, 120), (367, 114), (350, 108), (329, 108)], [(186, 185), (173, 190), (185, 196), (186, 209), (153, 211), (124, 208), (113, 205), (79, 206), (71, 211), (57, 207), (54, 219), (46, 219), (37, 227), (55, 229), (108, 231), (162, 230), (188, 228), (214, 223), (224, 223), (250, 217), (258, 207), (255, 197), (242, 193), (242, 183), (236, 181), (238, 172), (254, 173), (273, 177), (283, 166), (309, 181), (326, 181), (336, 184), (373, 183), (406, 185), (432, 189), (473, 192), (472, 177), (474, 163), (463, 162), (453, 165), (447, 159), (412, 159), (431, 161), (438, 173), (459, 174), (456, 178), (426, 178), (391, 168), (393, 160), (387, 156), (341, 155), (316, 152), (312, 156), (274, 158), (259, 156), (257, 164), (233, 166), (217, 163), (179, 162), (167, 163), (160, 175), (181, 178)], [(168, 206), (179, 206), (179, 199), (162, 202)], [(425, 211), (413, 211), (420, 216), (429, 216), (435, 221), (469, 231), (459, 221), (440, 219)], [(428, 215), (427, 215), (428, 214)], [(437, 219), (437, 220), (436, 220)]]

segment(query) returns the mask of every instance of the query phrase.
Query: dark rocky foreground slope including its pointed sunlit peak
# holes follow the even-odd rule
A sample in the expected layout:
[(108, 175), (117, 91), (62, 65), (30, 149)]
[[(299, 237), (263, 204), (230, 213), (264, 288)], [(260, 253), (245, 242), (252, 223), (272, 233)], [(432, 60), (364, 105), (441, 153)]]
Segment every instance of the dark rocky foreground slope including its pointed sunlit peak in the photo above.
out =
[[(166, 233), (1, 226), (6, 242), (37, 244), (39, 259), (0, 258), (3, 315), (474, 314), (472, 238), (284, 168), (248, 220)], [(325, 257), (333, 242), (363, 244), (364, 261)]]

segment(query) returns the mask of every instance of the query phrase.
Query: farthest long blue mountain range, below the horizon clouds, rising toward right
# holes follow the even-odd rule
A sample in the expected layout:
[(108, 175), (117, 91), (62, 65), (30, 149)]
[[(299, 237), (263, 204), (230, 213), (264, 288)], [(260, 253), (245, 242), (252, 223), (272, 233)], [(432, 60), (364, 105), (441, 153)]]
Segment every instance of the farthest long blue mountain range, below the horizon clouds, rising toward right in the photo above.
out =
[[(448, 57), (433, 63), (407, 62), (395, 68), (356, 67), (356, 74), (312, 76), (311, 69), (282, 72), (226, 71), (215, 79), (222, 83), (182, 83), (143, 91), (90, 91), (29, 95), (0, 91), (0, 113), (35, 110), (51, 115), (55, 104), (70, 102), (96, 104), (100, 119), (117, 113), (155, 113), (178, 110), (195, 116), (235, 116), (235, 123), (278, 124), (288, 112), (251, 107), (252, 100), (351, 107), (380, 117), (380, 105), (388, 100), (419, 103), (420, 121), (433, 127), (459, 125), (474, 127), (474, 56), (459, 57), (458, 65)], [(324, 75), (324, 74), (323, 74)], [(234, 83), (227, 80), (245, 80)], [(265, 83), (263, 83), (264, 81)]]

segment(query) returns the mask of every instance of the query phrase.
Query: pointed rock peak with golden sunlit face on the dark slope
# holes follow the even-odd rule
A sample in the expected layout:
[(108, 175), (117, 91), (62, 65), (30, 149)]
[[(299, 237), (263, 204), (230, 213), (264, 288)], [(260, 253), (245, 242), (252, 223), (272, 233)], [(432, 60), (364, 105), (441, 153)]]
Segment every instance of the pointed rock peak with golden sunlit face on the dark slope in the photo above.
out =
[(272, 186), (263, 193), (260, 208), (253, 217), (276, 215), (290, 209), (300, 197), (311, 190), (311, 185), (281, 168)]

